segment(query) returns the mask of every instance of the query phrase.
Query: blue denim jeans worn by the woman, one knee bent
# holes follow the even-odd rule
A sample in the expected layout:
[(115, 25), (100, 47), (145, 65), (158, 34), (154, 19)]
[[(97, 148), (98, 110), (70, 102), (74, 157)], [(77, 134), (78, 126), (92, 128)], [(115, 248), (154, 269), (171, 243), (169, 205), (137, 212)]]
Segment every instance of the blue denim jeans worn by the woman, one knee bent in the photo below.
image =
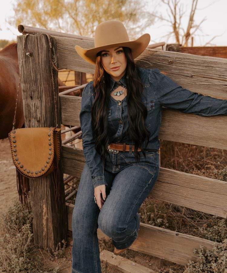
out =
[(109, 152), (104, 176), (107, 198), (101, 210), (94, 202), (94, 187), (87, 163), (81, 175), (72, 217), (72, 272), (100, 273), (97, 228), (112, 238), (117, 249), (129, 247), (138, 236), (138, 210), (153, 188), (160, 169), (158, 152), (146, 151), (136, 162), (134, 152)]

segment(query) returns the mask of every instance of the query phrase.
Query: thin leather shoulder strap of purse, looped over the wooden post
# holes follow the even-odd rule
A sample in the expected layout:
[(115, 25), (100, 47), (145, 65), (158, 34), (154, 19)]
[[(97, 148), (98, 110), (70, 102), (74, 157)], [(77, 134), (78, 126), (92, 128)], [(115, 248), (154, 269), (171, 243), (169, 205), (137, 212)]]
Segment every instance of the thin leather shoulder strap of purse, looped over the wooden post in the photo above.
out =
[[(51, 40), (50, 37), (47, 33), (36, 33), (36, 34), (44, 34), (47, 36), (48, 38), (48, 42), (49, 42), (49, 58), (50, 58), (50, 62), (51, 65), (54, 67), (55, 70), (58, 71), (57, 67), (54, 65), (52, 58), (51, 58), (51, 48), (52, 48), (52, 44), (51, 44)], [(25, 41), (27, 39), (27, 37), (29, 35), (33, 35), (33, 34), (27, 34), (25, 36), (25, 40), (24, 40), (24, 45), (23, 45), (23, 53), (22, 53), (22, 60), (21, 60), (21, 69), (20, 69), (20, 79), (19, 79), (19, 84), (18, 84), (18, 89), (17, 89), (17, 99), (16, 99), (16, 107), (15, 107), (15, 113), (14, 113), (14, 119), (13, 119), (13, 129), (15, 129), (15, 123), (16, 123), (16, 111), (17, 111), (17, 101), (18, 101), (18, 94), (19, 94), (19, 88), (20, 88), (20, 84), (21, 84), (21, 71), (22, 71), (22, 65), (23, 65), (23, 61), (24, 61), (24, 53), (25, 53)], [(51, 68), (51, 79), (52, 79), (52, 86), (53, 86), (53, 92), (54, 92), (54, 110), (55, 110), (55, 122), (56, 122), (56, 127), (58, 127), (58, 115), (57, 115), (57, 105), (56, 105), (56, 96), (55, 96), (55, 89), (54, 89), (54, 76), (53, 76), (53, 71)]]

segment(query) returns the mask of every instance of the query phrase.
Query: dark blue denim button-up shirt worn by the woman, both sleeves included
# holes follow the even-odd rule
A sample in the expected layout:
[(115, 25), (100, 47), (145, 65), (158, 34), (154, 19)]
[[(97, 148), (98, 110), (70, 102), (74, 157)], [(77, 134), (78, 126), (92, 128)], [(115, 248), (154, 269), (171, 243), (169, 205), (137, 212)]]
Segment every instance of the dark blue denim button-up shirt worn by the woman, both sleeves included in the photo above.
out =
[[(227, 100), (204, 96), (176, 84), (168, 76), (162, 74), (159, 69), (145, 69), (136, 67), (143, 83), (142, 101), (147, 108), (146, 128), (150, 131), (147, 151), (157, 151), (160, 147), (158, 138), (161, 126), (162, 106), (179, 110), (181, 113), (192, 113), (199, 116), (227, 115)], [(125, 75), (119, 80), (125, 86)], [(91, 172), (94, 188), (99, 185), (107, 185), (104, 177), (104, 166), (99, 153), (95, 150), (95, 139), (91, 121), (91, 106), (94, 101), (93, 82), (88, 83), (81, 98), (80, 124), (82, 130), (82, 144), (85, 161)], [(118, 83), (119, 83), (118, 82)], [(117, 82), (110, 78), (110, 91)], [(109, 142), (126, 142), (133, 144), (128, 138), (128, 113), (127, 96), (123, 100), (110, 96), (107, 113), (108, 129), (111, 132)], [(119, 123), (120, 121), (120, 123)], [(143, 143), (145, 147), (145, 142)]]

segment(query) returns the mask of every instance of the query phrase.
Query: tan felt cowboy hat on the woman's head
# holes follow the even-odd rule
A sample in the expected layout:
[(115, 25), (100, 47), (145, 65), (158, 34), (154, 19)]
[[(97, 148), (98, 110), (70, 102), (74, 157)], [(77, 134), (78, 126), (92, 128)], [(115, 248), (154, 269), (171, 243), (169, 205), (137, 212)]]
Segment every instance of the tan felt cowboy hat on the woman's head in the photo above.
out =
[(109, 20), (97, 25), (95, 29), (94, 48), (84, 49), (75, 46), (77, 53), (87, 62), (96, 64), (97, 53), (114, 46), (127, 46), (132, 51), (133, 59), (140, 56), (150, 42), (150, 34), (145, 33), (134, 41), (129, 40), (127, 30), (122, 22)]

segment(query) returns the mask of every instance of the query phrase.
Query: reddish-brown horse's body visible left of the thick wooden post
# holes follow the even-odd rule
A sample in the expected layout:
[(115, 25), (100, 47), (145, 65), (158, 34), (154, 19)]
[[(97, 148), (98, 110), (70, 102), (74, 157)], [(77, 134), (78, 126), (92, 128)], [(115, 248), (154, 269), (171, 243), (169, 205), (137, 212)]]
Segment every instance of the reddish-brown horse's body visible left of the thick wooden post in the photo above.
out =
[[(8, 133), (12, 130), (20, 78), (16, 43), (6, 45), (0, 51), (0, 71), (0, 139), (3, 139), (8, 137)], [(15, 128), (23, 127), (24, 123), (25, 118), (20, 90)]]

